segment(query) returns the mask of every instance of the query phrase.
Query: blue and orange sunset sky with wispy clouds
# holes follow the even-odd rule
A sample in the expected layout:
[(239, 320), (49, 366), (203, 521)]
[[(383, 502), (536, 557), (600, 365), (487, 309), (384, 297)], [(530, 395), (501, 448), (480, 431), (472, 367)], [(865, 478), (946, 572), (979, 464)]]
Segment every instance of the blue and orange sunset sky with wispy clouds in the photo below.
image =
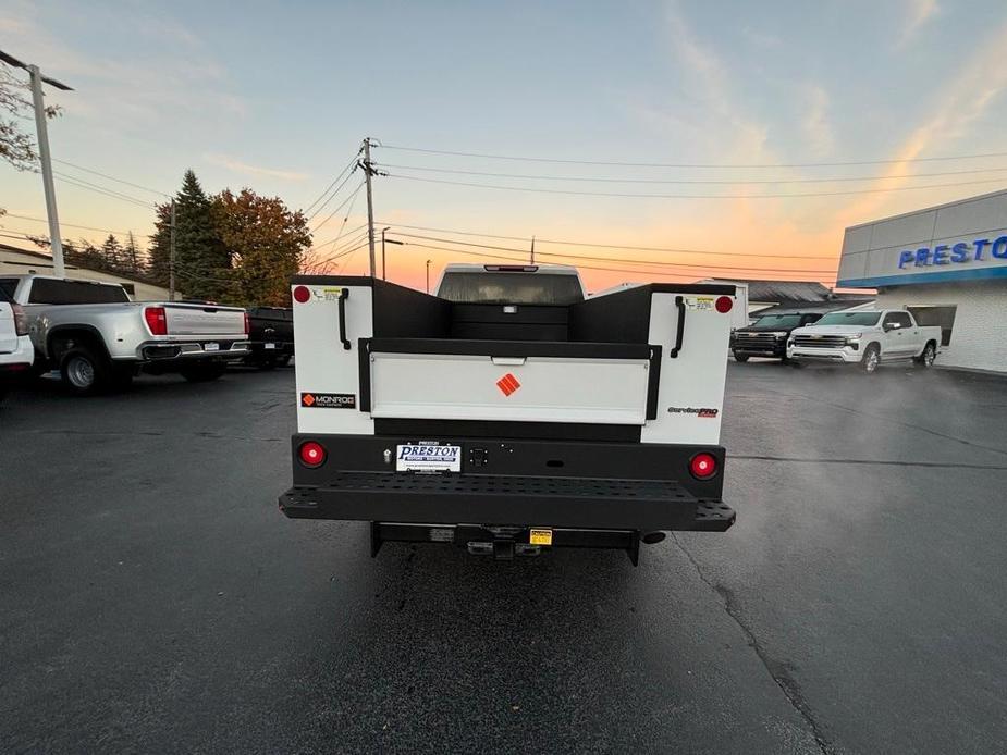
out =
[[(417, 287), (428, 259), (524, 257), (532, 235), (592, 289), (833, 284), (847, 225), (1007, 183), (1003, 0), (4, 0), (0, 49), (75, 89), (47, 90), (64, 237), (145, 238), (187, 168), (307, 208), (370, 136), (379, 227), (406, 243), (389, 277)], [(311, 220), (316, 259), (360, 235), (359, 182)], [(3, 242), (46, 233), (37, 174), (0, 165), (0, 207)]]

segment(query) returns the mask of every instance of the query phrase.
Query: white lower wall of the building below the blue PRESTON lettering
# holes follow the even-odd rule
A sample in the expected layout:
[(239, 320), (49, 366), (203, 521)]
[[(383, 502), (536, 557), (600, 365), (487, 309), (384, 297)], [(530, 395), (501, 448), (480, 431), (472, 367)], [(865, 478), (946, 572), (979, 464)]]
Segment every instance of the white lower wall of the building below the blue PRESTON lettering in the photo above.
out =
[(937, 364), (1007, 372), (1007, 285), (969, 281), (897, 286), (877, 293), (879, 309), (955, 306), (950, 344), (941, 347)]

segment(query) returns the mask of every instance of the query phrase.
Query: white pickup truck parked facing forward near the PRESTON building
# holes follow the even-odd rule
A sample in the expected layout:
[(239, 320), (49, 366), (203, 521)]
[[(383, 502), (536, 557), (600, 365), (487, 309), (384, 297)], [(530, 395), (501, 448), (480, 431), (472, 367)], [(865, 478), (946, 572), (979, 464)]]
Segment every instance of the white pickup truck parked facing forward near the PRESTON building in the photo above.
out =
[(908, 360), (931, 367), (940, 344), (940, 327), (919, 325), (904, 309), (830, 312), (790, 332), (787, 358), (798, 364), (859, 364), (874, 372), (882, 363)]

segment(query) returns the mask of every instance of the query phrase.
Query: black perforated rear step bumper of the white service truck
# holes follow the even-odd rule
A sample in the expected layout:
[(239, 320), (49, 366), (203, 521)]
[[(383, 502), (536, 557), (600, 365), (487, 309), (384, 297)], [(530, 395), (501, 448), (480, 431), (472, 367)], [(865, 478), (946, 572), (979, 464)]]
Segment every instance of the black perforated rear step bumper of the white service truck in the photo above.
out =
[(723, 532), (735, 512), (668, 480), (339, 471), (280, 496), (295, 519)]

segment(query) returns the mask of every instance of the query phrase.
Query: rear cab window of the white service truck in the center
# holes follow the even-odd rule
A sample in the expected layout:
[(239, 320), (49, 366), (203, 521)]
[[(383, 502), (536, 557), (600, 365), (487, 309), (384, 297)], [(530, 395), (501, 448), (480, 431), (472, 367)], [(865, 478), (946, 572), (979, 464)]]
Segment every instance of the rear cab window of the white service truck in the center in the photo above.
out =
[(572, 305), (584, 300), (576, 275), (445, 273), (438, 296), (463, 304)]

